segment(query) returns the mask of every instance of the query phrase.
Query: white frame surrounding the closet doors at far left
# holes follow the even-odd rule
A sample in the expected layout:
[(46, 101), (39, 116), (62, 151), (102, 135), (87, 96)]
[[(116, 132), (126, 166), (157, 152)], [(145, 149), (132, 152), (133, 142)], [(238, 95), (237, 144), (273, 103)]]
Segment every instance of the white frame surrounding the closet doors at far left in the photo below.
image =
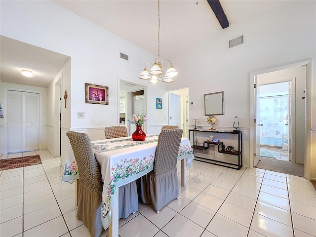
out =
[(21, 92), (30, 92), (30, 93), (37, 93), (40, 95), (40, 107), (39, 107), (39, 110), (40, 110), (40, 121), (39, 121), (39, 149), (41, 150), (42, 149), (42, 92), (39, 91), (39, 90), (28, 90), (28, 89), (22, 89), (22, 88), (17, 88), (17, 87), (4, 87), (3, 88), (3, 92), (4, 92), (4, 101), (3, 101), (3, 105), (2, 106), (2, 110), (3, 110), (3, 115), (4, 115), (4, 118), (3, 118), (3, 122), (4, 122), (4, 132), (3, 132), (3, 136), (1, 136), (1, 142), (2, 142), (2, 145), (1, 145), (1, 148), (2, 148), (2, 151), (1, 151), (1, 154), (7, 154), (8, 153), (8, 142), (7, 142), (7, 131), (8, 131), (8, 121), (7, 121), (7, 117), (5, 117), (5, 115), (7, 114), (8, 112), (8, 91), (9, 90), (13, 90), (13, 91), (21, 91)]

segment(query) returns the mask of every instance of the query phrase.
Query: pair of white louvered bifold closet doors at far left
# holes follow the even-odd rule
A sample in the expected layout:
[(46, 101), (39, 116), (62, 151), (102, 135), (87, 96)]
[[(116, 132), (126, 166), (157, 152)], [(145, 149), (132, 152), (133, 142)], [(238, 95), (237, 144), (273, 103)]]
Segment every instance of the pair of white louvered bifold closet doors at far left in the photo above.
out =
[(8, 152), (39, 149), (39, 100), (36, 93), (8, 91)]

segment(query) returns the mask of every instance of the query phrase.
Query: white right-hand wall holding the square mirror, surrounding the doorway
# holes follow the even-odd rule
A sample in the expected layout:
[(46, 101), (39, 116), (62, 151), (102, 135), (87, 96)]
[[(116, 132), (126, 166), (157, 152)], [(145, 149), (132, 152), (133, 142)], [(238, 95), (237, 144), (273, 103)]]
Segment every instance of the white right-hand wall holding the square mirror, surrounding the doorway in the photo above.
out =
[[(167, 85), (167, 90), (189, 87), (190, 120), (200, 119), (208, 126), (203, 110), (203, 95), (224, 91), (225, 115), (216, 116), (217, 126), (233, 129), (233, 118), (240, 119), (244, 131), (244, 164), (249, 165), (250, 73), (292, 62), (312, 59), (312, 81), (308, 81), (307, 110), (316, 130), (316, 1), (288, 1), (287, 7), (276, 8), (239, 22), (230, 22), (184, 53), (172, 58), (179, 76)], [(211, 26), (205, 26), (211, 27)], [(229, 48), (229, 40), (244, 36), (244, 43)], [(312, 106), (312, 98), (314, 106)], [(310, 126), (311, 127), (311, 126)], [(315, 134), (314, 132), (313, 134)], [(311, 144), (315, 146), (315, 135)], [(307, 144), (310, 147), (310, 144)], [(312, 152), (312, 178), (316, 178), (316, 153)], [(248, 163), (247, 163), (248, 162)]]

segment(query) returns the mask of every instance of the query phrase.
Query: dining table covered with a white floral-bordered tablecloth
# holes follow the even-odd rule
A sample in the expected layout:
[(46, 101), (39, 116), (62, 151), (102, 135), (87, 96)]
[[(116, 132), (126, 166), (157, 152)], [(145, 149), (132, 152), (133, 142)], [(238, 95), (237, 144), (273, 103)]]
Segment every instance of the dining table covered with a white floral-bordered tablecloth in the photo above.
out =
[[(103, 180), (101, 222), (109, 228), (110, 237), (118, 237), (118, 187), (128, 184), (154, 168), (158, 135), (147, 135), (144, 141), (119, 137), (91, 141), (94, 156), (100, 165)], [(186, 168), (194, 159), (188, 138), (181, 139), (178, 158), (181, 160), (181, 185), (186, 186)], [(78, 166), (70, 148), (65, 162), (62, 181), (79, 179)]]

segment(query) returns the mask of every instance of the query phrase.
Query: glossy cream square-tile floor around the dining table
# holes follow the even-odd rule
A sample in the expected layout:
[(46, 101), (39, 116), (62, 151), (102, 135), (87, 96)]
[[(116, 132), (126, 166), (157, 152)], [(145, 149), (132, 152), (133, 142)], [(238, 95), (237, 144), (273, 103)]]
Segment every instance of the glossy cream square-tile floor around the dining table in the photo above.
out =
[[(75, 185), (60, 181), (59, 159), (46, 150), (36, 154), (42, 164), (0, 171), (0, 236), (89, 237), (76, 220)], [(138, 212), (120, 219), (119, 236), (316, 236), (316, 191), (302, 177), (196, 160), (187, 177), (179, 200), (159, 214), (140, 204)]]

